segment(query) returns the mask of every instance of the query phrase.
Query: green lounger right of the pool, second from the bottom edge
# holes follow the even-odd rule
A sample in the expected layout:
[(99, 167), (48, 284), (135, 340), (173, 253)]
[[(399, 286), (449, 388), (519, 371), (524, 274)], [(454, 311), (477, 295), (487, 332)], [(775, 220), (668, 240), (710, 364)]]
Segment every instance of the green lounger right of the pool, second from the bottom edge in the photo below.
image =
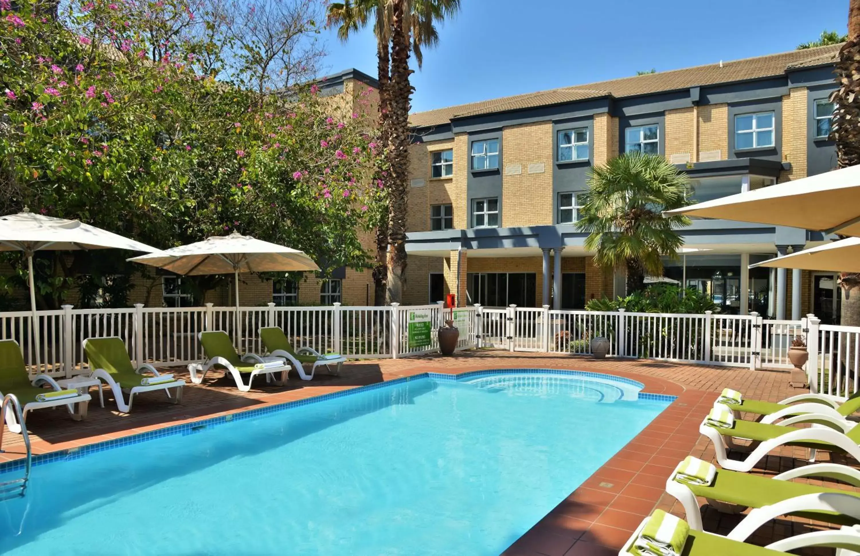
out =
[[(684, 463), (681, 461), (669, 475), (666, 481), (666, 492), (677, 498), (684, 506), (686, 520), (693, 529), (702, 529), (702, 515), (697, 497), (705, 498), (708, 504), (716, 510), (738, 513), (738, 511), (746, 508), (770, 506), (805, 494), (835, 492), (849, 494), (857, 498), (857, 506), (860, 508), (860, 492), (792, 481), (792, 479), (807, 477), (827, 478), (841, 480), (851, 486), (860, 487), (860, 471), (854, 467), (836, 463), (815, 463), (796, 467), (774, 477), (714, 467), (715, 473), (710, 484), (700, 485), (676, 479), (679, 470), (684, 467)], [(801, 511), (795, 515), (836, 525), (860, 524), (860, 521), (851, 516), (830, 511)]]

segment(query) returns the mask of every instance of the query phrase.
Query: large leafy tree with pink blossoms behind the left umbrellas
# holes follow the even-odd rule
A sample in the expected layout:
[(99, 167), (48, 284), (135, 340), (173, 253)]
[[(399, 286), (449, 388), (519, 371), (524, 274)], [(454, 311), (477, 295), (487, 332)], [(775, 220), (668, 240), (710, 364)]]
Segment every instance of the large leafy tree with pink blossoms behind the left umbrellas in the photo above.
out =
[[(55, 18), (0, 0), (0, 211), (28, 206), (156, 247), (237, 229), (365, 266), (358, 234), (382, 190), (372, 121), (316, 86), (270, 95), (206, 76), (181, 33), (154, 60), (153, 10), (183, 6), (100, 0)], [(43, 256), (51, 306), (76, 268)]]

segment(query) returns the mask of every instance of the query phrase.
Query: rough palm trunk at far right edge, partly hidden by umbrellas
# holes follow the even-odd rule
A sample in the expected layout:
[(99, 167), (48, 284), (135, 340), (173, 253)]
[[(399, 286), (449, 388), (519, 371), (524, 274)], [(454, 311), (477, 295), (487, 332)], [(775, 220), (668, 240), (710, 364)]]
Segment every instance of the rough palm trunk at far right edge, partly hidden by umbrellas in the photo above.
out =
[[(836, 79), (839, 89), (833, 92), (832, 137), (836, 141), (836, 160), (839, 168), (860, 163), (860, 0), (848, 4), (848, 41), (839, 49), (836, 62)], [(842, 316), (844, 326), (860, 326), (860, 292), (851, 296), (851, 290), (860, 286), (860, 274), (841, 272)]]

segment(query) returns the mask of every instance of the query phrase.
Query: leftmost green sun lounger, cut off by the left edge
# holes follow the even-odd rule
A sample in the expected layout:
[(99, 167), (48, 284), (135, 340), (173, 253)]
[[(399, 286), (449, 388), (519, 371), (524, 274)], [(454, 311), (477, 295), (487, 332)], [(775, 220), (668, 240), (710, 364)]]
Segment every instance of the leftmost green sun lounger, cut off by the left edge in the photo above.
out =
[[(47, 384), (51, 389), (42, 388), (43, 384)], [(63, 394), (55, 394), (62, 396), (55, 399), (41, 400), (45, 394), (52, 392), (62, 392)], [(66, 406), (72, 419), (80, 420), (86, 416), (87, 403), (89, 402), (89, 394), (78, 394), (77, 390), (64, 390), (51, 376), (36, 375), (30, 378), (27, 364), (24, 363), (24, 357), (21, 353), (21, 346), (14, 339), (0, 340), (0, 400), (6, 394), (15, 394), (21, 404), (22, 419), (25, 421), (27, 413), (34, 409), (57, 406)], [(74, 408), (76, 404), (80, 404), (77, 412)], [(7, 406), (5, 418), (6, 425), (9, 425), (9, 431), (22, 431), (25, 423), (18, 423), (12, 406)]]

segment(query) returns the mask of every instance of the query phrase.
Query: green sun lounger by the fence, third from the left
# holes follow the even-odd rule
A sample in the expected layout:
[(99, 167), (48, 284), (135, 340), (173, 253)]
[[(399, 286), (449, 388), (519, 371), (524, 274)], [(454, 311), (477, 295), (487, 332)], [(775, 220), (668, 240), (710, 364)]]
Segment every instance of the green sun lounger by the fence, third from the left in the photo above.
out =
[[(266, 375), (266, 382), (274, 382), (280, 386), (283, 380), (276, 379), (275, 373), (286, 378), (286, 373), (290, 370), (290, 365), (284, 364), (281, 357), (260, 357), (255, 353), (245, 353), (240, 356), (230, 336), (222, 330), (201, 332), (198, 337), (200, 345), (203, 345), (206, 359), (202, 363), (188, 365), (191, 382), (194, 384), (203, 382), (206, 372), (210, 369), (221, 369), (233, 377), (240, 392), (248, 392), (255, 376)], [(248, 384), (243, 381), (243, 374), (249, 375)]]

